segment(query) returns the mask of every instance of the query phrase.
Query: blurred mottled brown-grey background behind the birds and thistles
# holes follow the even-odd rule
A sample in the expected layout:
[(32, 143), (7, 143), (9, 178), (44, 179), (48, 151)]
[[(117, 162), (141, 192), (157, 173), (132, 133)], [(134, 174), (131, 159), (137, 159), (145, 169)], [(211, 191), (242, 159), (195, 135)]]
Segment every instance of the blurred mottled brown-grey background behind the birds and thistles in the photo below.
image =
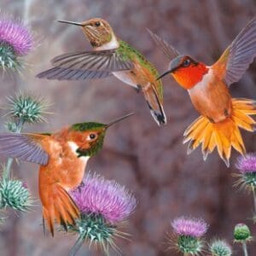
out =
[[(0, 9), (25, 19), (38, 42), (26, 59), (31, 67), (24, 78), (5, 75), (2, 79), (1, 101), (20, 88), (53, 102), (50, 111), (55, 114), (49, 116), (49, 123), (27, 127), (26, 131), (54, 131), (84, 120), (108, 122), (136, 110), (129, 121), (108, 131), (101, 154), (87, 166), (87, 172), (113, 178), (137, 196), (137, 210), (126, 229), (132, 241), (117, 241), (124, 255), (175, 255), (166, 252), (165, 237), (171, 231), (170, 220), (180, 215), (205, 218), (210, 224), (207, 238), (225, 237), (230, 243), (236, 223), (246, 222), (253, 230), (248, 219), (253, 208), (251, 195), (233, 187), (235, 178), (231, 174), (236, 172), (236, 152), (233, 151), (229, 169), (216, 153), (206, 163), (200, 149), (186, 154), (183, 131), (198, 113), (187, 92), (174, 81), (163, 81), (168, 125), (160, 129), (143, 96), (115, 78), (58, 82), (35, 79), (35, 74), (50, 67), (49, 60), (55, 55), (90, 49), (78, 27), (56, 20), (82, 21), (96, 16), (108, 20), (119, 38), (141, 50), (160, 72), (165, 70), (167, 60), (149, 38), (146, 27), (178, 50), (211, 64), (256, 14), (254, 0), (1, 0)], [(256, 99), (255, 72), (254, 61), (243, 79), (231, 87), (234, 96)], [(255, 151), (255, 133), (243, 132), (243, 137), (247, 151)], [(26, 180), (38, 198), (37, 170), (38, 166), (22, 163), (15, 166), (14, 173)], [(9, 216), (0, 230), (0, 255), (67, 255), (73, 245), (73, 236), (44, 237), (39, 201), (32, 212), (18, 216), (9, 212)], [(255, 228), (253, 232), (256, 236)], [(250, 248), (253, 255), (253, 244)], [(240, 247), (234, 249), (235, 255), (241, 255)], [(79, 255), (101, 253), (83, 247)]]

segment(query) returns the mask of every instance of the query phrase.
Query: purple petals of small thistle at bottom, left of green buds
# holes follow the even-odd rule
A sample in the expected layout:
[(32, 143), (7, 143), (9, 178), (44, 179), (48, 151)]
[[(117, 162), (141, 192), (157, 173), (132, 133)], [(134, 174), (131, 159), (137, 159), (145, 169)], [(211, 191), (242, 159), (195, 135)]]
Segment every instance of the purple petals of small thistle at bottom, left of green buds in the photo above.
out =
[(179, 236), (199, 238), (207, 232), (208, 225), (202, 219), (179, 217), (172, 221), (172, 228)]

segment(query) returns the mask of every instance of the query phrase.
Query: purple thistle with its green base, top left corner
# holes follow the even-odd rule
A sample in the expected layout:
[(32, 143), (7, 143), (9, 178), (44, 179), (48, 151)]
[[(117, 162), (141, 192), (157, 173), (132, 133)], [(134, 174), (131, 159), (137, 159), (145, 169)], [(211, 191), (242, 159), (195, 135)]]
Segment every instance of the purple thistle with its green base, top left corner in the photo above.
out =
[(29, 29), (19, 21), (0, 18), (0, 65), (3, 69), (20, 67), (20, 56), (32, 50)]

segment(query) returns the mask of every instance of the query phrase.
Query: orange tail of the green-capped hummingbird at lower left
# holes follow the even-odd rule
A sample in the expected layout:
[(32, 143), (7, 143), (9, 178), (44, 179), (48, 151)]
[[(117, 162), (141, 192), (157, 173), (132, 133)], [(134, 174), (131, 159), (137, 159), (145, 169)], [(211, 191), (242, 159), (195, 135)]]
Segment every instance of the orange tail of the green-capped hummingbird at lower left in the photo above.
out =
[(67, 224), (74, 225), (75, 218), (79, 218), (79, 214), (75, 202), (59, 183), (51, 184), (48, 187), (48, 200), (43, 203), (43, 217), (52, 236), (54, 236), (55, 221), (67, 230)]

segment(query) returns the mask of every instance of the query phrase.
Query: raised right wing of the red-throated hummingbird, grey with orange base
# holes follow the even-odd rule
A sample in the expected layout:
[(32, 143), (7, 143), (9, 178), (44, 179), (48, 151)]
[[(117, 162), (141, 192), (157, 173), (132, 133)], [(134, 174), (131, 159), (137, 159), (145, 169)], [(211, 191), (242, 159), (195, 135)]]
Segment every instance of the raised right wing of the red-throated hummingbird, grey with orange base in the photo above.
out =
[(242, 29), (212, 68), (220, 79), (230, 85), (241, 79), (255, 57), (256, 17)]

